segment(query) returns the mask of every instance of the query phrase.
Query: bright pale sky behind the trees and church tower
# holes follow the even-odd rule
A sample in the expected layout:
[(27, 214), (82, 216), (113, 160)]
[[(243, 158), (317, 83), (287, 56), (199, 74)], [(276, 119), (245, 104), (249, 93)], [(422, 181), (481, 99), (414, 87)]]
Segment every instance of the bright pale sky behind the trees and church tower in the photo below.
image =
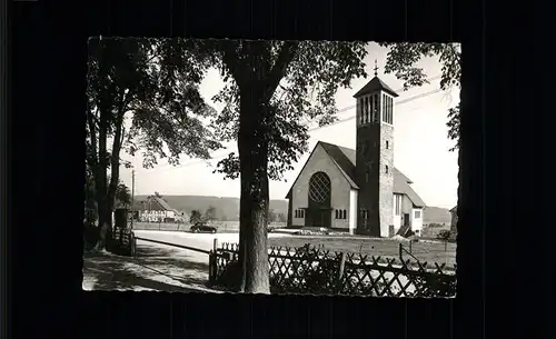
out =
[[(367, 46), (368, 54), (364, 60), (368, 78), (356, 78), (351, 81), (351, 89), (340, 88), (336, 93), (336, 104), (339, 120), (356, 114), (356, 101), (353, 96), (364, 87), (374, 76), (375, 59), (378, 66), (378, 77), (398, 92), (395, 99), (395, 150), (394, 164), (409, 177), (415, 191), (425, 200), (427, 206), (453, 208), (457, 205), (458, 188), (458, 152), (450, 152), (454, 141), (447, 137), (448, 108), (459, 102), (459, 90), (439, 90), (441, 64), (437, 58), (427, 58), (419, 61), (430, 83), (419, 88), (403, 91), (403, 81), (394, 74), (384, 74), (381, 68), (386, 62), (388, 50), (370, 42)], [(221, 106), (210, 99), (221, 88), (218, 71), (211, 70), (203, 79), (200, 92), (208, 103), (217, 110)], [(310, 151), (318, 141), (336, 143), (355, 149), (356, 120), (349, 119), (310, 132), (309, 151), (294, 166), (294, 170), (285, 173), (281, 181), (270, 181), (270, 199), (285, 199), (290, 186), (307, 161)], [(207, 163), (198, 159), (183, 157), (181, 164), (173, 167), (162, 159), (153, 169), (142, 168), (140, 154), (121, 158), (132, 162), (135, 168), (135, 195), (152, 195), (155, 191), (167, 196), (216, 196), (239, 197), (239, 179), (224, 180), (224, 176), (212, 173), (216, 163), (228, 152), (237, 151), (235, 142), (227, 143), (229, 148), (216, 151), (214, 160)], [(131, 169), (121, 167), (121, 180), (131, 188)]]

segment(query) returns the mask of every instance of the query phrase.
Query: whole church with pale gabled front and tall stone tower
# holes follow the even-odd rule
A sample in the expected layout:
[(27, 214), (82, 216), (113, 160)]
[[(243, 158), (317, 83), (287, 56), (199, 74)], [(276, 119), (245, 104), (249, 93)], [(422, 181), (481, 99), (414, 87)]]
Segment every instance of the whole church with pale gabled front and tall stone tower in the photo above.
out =
[(327, 228), (373, 237), (420, 235), (425, 202), (394, 167), (394, 101), (375, 77), (355, 96), (357, 146), (319, 141), (286, 199), (289, 228)]

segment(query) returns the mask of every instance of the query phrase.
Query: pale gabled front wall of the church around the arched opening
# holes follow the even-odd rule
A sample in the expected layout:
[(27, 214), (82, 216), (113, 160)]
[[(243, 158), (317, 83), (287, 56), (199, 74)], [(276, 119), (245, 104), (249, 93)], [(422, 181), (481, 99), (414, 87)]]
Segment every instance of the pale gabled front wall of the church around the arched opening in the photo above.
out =
[(297, 178), (297, 181), (292, 188), (292, 202), (289, 213), (291, 215), (292, 227), (305, 226), (305, 218), (294, 218), (294, 211), (296, 209), (306, 209), (309, 206), (308, 200), (308, 189), (309, 179), (316, 172), (322, 171), (330, 177), (331, 185), (331, 199), (330, 199), (330, 211), (331, 213), (331, 227), (348, 229), (349, 218), (347, 219), (336, 219), (335, 209), (349, 210), (349, 191), (350, 186), (346, 180), (344, 175), (340, 172), (338, 167), (330, 160), (328, 153), (319, 144), (311, 157), (307, 160), (302, 172)]

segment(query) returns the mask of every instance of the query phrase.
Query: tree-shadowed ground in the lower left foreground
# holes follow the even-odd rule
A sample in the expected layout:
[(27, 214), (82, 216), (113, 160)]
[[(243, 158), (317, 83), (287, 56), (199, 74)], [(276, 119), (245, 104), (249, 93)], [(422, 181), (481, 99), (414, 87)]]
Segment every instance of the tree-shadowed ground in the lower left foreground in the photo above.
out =
[(199, 259), (187, 251), (148, 245), (138, 246), (136, 258), (86, 252), (83, 276), (93, 277), (92, 290), (211, 291), (208, 256), (206, 262)]

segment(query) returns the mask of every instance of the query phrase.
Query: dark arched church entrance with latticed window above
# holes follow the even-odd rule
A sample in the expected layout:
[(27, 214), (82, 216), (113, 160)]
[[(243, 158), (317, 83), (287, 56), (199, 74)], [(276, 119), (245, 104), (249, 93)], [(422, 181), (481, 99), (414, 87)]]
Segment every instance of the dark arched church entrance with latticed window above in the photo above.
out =
[(331, 185), (330, 178), (325, 172), (316, 172), (309, 180), (309, 207), (305, 226), (331, 226), (332, 209), (330, 208)]

